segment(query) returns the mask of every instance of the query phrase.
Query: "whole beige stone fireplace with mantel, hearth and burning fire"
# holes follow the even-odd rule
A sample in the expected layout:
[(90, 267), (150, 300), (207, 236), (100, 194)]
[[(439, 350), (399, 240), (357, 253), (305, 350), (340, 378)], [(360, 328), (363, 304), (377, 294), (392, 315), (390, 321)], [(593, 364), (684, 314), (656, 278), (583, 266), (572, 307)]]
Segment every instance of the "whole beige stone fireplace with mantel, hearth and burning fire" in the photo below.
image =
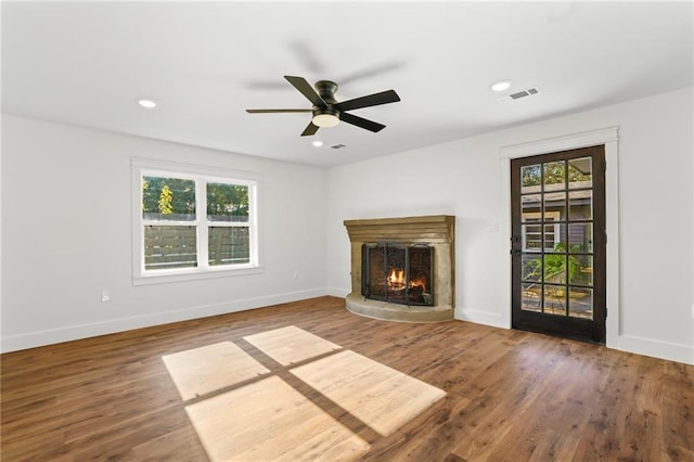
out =
[(455, 217), (345, 220), (351, 244), (347, 309), (370, 318), (453, 319)]

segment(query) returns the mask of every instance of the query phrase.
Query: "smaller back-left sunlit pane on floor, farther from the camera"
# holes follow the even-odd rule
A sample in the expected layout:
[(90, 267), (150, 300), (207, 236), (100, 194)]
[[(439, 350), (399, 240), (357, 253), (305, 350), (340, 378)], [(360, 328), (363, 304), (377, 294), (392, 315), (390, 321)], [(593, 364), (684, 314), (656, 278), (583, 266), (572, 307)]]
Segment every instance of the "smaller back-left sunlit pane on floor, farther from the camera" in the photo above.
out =
[(184, 401), (270, 372), (231, 342), (189, 349), (162, 359)]

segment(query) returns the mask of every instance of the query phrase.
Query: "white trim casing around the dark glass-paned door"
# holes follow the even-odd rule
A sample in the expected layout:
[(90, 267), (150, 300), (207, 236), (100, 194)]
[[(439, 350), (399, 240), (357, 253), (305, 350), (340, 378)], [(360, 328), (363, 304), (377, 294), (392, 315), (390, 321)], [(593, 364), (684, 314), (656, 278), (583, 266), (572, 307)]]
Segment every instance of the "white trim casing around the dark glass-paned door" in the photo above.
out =
[(550, 154), (592, 145), (605, 145), (605, 232), (606, 245), (606, 310), (605, 345), (618, 348), (619, 323), (619, 127), (607, 127), (558, 138), (550, 138), (526, 143), (512, 144), (500, 149), (501, 200), (504, 206), (499, 231), (506, 236), (506, 270), (502, 283), (505, 284), (507, 309), (502, 312), (502, 324), (511, 329), (512, 287), (511, 287), (511, 159)]

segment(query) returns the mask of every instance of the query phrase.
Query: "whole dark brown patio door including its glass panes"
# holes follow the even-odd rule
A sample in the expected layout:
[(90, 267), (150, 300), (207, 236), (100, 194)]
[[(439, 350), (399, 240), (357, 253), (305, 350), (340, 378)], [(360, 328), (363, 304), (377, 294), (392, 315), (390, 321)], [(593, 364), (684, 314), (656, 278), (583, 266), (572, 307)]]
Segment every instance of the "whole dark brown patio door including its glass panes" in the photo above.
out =
[(512, 325), (605, 342), (605, 154), (511, 162)]

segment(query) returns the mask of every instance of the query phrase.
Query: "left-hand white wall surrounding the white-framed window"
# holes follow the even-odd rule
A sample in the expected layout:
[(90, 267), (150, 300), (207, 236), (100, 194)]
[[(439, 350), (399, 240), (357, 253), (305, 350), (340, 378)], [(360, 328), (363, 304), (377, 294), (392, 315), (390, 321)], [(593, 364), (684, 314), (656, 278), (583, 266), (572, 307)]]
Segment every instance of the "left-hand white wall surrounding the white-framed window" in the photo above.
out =
[[(262, 175), (265, 271), (133, 286), (133, 156)], [(2, 350), (323, 295), (325, 190), (319, 168), (3, 116)]]

